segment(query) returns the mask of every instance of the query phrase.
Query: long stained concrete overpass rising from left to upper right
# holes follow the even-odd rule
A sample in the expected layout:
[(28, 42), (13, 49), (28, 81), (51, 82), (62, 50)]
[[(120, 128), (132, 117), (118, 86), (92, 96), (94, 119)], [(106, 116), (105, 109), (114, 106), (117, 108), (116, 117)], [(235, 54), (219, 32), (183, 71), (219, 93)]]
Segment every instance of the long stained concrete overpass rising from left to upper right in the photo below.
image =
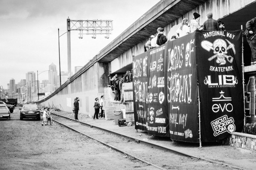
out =
[[(237, 30), (240, 29), (241, 24), (245, 25), (247, 20), (256, 16), (255, 5), (255, 0), (237, 0), (236, 3), (229, 0), (162, 0), (103, 48), (74, 74), (69, 82), (61, 85), (38, 103), (71, 112), (74, 98), (79, 97), (79, 112), (92, 116), (94, 99), (103, 94), (108, 95), (106, 94), (108, 74), (121, 75), (125, 70), (131, 70), (132, 56), (144, 52), (144, 44), (150, 35), (156, 33), (158, 27), (164, 28), (165, 35), (173, 35), (182, 18), (191, 20), (193, 13), (197, 12), (201, 15), (202, 25), (207, 19), (206, 13), (212, 11), (213, 18), (222, 19), (228, 30)], [(114, 103), (113, 106), (122, 108), (111, 98), (106, 100), (108, 106)]]

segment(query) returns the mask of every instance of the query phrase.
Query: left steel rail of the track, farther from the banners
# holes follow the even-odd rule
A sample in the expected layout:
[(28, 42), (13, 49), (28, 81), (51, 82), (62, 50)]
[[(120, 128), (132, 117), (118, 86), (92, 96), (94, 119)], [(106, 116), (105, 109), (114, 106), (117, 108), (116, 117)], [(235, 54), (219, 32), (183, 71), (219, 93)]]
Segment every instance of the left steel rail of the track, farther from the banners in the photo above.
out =
[[(55, 114), (54, 114), (54, 115), (55, 115)], [(156, 167), (156, 168), (158, 168), (158, 169), (167, 170), (167, 169), (164, 169), (164, 168), (162, 168), (162, 167), (160, 167), (160, 166), (157, 166), (157, 165), (155, 165), (155, 164), (152, 164), (152, 163), (150, 163), (150, 162), (148, 162), (148, 161), (146, 161), (146, 160), (144, 160), (144, 159), (138, 158), (138, 157), (136, 157), (136, 156), (134, 156), (134, 155), (132, 155), (132, 154), (130, 154), (130, 153), (128, 153), (128, 152), (125, 152), (125, 151), (123, 151), (123, 150), (121, 150), (121, 149), (118, 149), (118, 148), (116, 148), (115, 146), (109, 145), (109, 144), (107, 144), (107, 143), (105, 143), (105, 142), (102, 142), (102, 141), (100, 141), (100, 140), (98, 140), (98, 139), (96, 139), (96, 138), (94, 138), (94, 137), (91, 137), (91, 136), (89, 136), (89, 135), (86, 135), (86, 134), (84, 134), (83, 132), (80, 132), (79, 130), (76, 130), (76, 129), (74, 129), (74, 128), (71, 128), (70, 126), (68, 126), (68, 125), (66, 125), (66, 124), (64, 124), (64, 123), (58, 122), (58, 121), (56, 121), (56, 120), (54, 120), (54, 119), (52, 119), (52, 121), (54, 121), (54, 122), (56, 122), (56, 123), (59, 123), (59, 124), (65, 126), (66, 128), (71, 129), (71, 130), (73, 130), (73, 131), (75, 131), (75, 132), (78, 132), (78, 133), (80, 133), (80, 134), (82, 134), (82, 135), (84, 135), (84, 136), (87, 136), (87, 137), (89, 137), (89, 138), (91, 138), (91, 139), (93, 139), (93, 140), (96, 140), (97, 142), (100, 142), (101, 144), (104, 144), (104, 145), (106, 145), (106, 146), (108, 146), (108, 147), (110, 147), (110, 148), (112, 148), (112, 149), (114, 149), (114, 150), (116, 150), (116, 151), (118, 151), (118, 152), (124, 153), (125, 155), (129, 155), (130, 157), (132, 157), (132, 158), (134, 158), (134, 159), (137, 159), (137, 160), (139, 160), (139, 161), (141, 161), (141, 162), (144, 162), (144, 163), (146, 163), (146, 164), (148, 164), (148, 165), (154, 166), (154, 167)], [(80, 121), (79, 121), (79, 122), (80, 122)]]

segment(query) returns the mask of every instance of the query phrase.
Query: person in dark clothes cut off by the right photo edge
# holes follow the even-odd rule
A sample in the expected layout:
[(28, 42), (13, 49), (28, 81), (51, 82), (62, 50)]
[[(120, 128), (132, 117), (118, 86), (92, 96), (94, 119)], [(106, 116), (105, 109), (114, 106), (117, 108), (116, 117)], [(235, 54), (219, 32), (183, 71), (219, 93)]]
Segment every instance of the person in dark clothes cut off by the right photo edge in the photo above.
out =
[(256, 64), (256, 17), (247, 21), (246, 30), (244, 32), (247, 42), (252, 50), (251, 65)]

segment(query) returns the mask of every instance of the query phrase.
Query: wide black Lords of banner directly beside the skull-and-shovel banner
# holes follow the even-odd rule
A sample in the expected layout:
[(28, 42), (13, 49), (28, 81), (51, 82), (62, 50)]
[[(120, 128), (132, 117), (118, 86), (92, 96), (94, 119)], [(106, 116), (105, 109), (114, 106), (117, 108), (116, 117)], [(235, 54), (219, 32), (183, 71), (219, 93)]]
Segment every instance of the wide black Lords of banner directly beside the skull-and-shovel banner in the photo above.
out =
[(195, 33), (167, 45), (167, 100), (170, 137), (199, 142)]

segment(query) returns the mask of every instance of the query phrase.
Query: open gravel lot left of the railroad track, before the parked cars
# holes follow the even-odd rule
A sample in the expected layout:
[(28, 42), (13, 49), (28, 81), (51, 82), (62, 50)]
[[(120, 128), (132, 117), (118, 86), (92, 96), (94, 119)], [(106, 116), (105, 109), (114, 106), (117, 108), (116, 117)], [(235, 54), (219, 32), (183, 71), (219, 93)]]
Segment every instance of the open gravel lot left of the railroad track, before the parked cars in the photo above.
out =
[(156, 169), (53, 123), (0, 120), (0, 169)]

